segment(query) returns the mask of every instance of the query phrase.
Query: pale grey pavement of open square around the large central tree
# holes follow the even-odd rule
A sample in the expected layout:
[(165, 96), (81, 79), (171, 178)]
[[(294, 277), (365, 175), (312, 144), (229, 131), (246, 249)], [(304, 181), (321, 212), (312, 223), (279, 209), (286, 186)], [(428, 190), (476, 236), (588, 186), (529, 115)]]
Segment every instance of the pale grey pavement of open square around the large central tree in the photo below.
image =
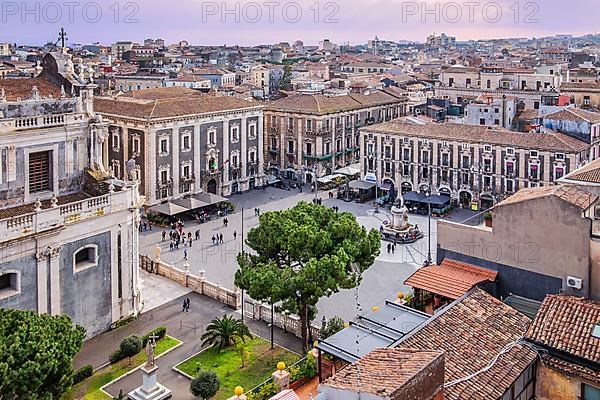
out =
[[(389, 218), (389, 212), (380, 210), (375, 213), (373, 204), (345, 203), (337, 199), (328, 199), (326, 192), (319, 192), (323, 199), (323, 204), (327, 206), (336, 205), (340, 211), (352, 212), (360, 224), (367, 228), (377, 229), (381, 222)], [(184, 231), (200, 230), (200, 241), (193, 242), (188, 251), (188, 263), (190, 271), (198, 274), (199, 271), (205, 271), (206, 278), (214, 283), (224, 287), (233, 287), (233, 278), (237, 270), (236, 256), (241, 251), (241, 232), (242, 232), (242, 207), (244, 208), (244, 231), (247, 232), (258, 224), (258, 218), (254, 215), (254, 208), (260, 207), (261, 213), (273, 210), (282, 210), (293, 207), (299, 201), (311, 201), (314, 193), (299, 193), (297, 189), (291, 191), (276, 188), (267, 188), (266, 190), (254, 190), (252, 192), (235, 195), (230, 200), (236, 204), (234, 214), (227, 216), (229, 220), (228, 227), (223, 226), (223, 219), (213, 219), (204, 224), (197, 224), (188, 221)], [(380, 305), (385, 300), (394, 300), (399, 291), (406, 291), (408, 287), (403, 285), (403, 281), (410, 276), (416, 269), (423, 265), (427, 257), (429, 236), (428, 219), (426, 216), (410, 215), (410, 222), (417, 224), (424, 232), (425, 237), (416, 243), (410, 245), (398, 245), (395, 254), (388, 254), (386, 242), (382, 242), (381, 254), (377, 257), (374, 265), (364, 274), (362, 282), (357, 290), (343, 290), (332, 295), (329, 298), (322, 299), (318, 304), (319, 316), (331, 317), (339, 315), (345, 320), (351, 320), (357, 313), (369, 310), (374, 305)], [(234, 240), (233, 233), (237, 232), (237, 240)], [(431, 220), (431, 252), (432, 259), (435, 260), (437, 227), (435, 219)], [(213, 235), (223, 234), (224, 243), (214, 246), (211, 243)], [(180, 246), (178, 250), (169, 251), (169, 243), (161, 242), (161, 229), (155, 227), (153, 231), (143, 232), (140, 236), (140, 251), (142, 254), (152, 255), (153, 248), (158, 243), (161, 246), (161, 258), (169, 263), (183, 268), (184, 247)], [(359, 301), (356, 301), (358, 293)], [(155, 296), (156, 297), (156, 296)], [(358, 307), (360, 304), (360, 307)], [(318, 321), (317, 320), (317, 321)]]

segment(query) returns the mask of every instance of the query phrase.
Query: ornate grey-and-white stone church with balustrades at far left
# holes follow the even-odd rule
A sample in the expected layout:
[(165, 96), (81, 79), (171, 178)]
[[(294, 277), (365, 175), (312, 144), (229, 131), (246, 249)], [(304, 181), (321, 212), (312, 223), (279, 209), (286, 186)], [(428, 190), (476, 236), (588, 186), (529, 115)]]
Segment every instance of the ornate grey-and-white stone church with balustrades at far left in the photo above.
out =
[(87, 337), (136, 315), (137, 183), (103, 168), (108, 124), (66, 52), (0, 80), (0, 307), (67, 314)]

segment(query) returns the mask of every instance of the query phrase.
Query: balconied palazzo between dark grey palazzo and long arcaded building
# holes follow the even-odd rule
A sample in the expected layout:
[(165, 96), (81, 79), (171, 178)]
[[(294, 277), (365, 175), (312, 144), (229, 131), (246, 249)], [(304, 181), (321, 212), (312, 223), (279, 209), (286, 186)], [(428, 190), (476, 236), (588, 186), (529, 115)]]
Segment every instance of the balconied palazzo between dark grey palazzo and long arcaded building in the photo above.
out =
[(341, 96), (294, 95), (265, 109), (265, 166), (272, 174), (311, 182), (359, 158), (359, 128), (406, 113), (392, 91)]

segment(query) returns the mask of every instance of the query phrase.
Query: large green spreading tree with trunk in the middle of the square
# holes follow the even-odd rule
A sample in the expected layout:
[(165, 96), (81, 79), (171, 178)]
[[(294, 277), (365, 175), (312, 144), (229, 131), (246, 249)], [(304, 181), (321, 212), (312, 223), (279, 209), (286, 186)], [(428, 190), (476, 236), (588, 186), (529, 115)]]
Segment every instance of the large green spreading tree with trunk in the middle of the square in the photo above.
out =
[(380, 234), (351, 213), (300, 202), (263, 214), (246, 243), (253, 252), (238, 256), (235, 284), (255, 300), (281, 302), (283, 310), (298, 314), (308, 348), (310, 308), (359, 284), (379, 254)]

